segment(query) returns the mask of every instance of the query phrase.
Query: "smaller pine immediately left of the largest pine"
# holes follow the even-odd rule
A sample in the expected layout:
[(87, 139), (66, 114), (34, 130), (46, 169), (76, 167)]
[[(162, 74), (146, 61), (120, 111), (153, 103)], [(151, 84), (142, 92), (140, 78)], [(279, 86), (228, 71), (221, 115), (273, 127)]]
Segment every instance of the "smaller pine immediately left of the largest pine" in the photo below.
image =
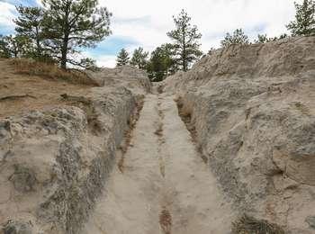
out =
[(34, 58), (42, 58), (42, 19), (43, 10), (40, 7), (16, 7), (19, 16), (14, 23), (16, 24), (15, 31), (24, 37), (31, 40), (34, 45)]

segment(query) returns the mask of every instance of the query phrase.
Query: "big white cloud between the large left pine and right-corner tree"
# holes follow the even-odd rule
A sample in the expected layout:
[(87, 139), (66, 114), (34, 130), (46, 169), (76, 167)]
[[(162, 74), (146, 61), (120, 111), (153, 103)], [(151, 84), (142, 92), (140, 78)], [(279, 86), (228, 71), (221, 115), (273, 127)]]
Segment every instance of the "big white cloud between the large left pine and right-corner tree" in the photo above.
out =
[(211, 47), (219, 47), (224, 34), (237, 28), (243, 28), (252, 40), (257, 33), (267, 33), (273, 37), (286, 32), (285, 24), (293, 19), (295, 12), (293, 2), (294, 0), (100, 1), (114, 16), (113, 35), (137, 40), (139, 46), (148, 50), (169, 41), (166, 31), (174, 27), (172, 16), (185, 9), (192, 17), (193, 24), (202, 32), (204, 52)]

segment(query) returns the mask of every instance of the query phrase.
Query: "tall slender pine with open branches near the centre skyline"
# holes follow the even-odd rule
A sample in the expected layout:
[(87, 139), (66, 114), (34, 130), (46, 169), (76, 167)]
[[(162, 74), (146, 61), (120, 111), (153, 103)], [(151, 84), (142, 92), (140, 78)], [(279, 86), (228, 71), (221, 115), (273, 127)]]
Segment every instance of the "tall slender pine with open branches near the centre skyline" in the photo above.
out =
[(182, 10), (177, 16), (173, 16), (175, 30), (167, 32), (167, 36), (173, 40), (175, 62), (180, 69), (187, 71), (193, 61), (202, 56), (199, 40), (202, 34), (197, 26), (191, 25), (191, 17)]

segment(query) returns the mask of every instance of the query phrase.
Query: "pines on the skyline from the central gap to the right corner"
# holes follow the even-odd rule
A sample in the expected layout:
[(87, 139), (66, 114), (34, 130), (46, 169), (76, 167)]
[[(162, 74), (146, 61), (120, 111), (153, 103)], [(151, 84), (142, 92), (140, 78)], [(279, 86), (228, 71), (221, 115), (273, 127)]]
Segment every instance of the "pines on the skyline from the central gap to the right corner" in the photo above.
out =
[[(315, 35), (315, 3), (313, 0), (304, 0), (302, 4), (295, 3), (295, 19), (286, 25), (291, 35), (282, 34), (279, 37), (269, 38), (266, 34), (258, 34), (257, 39), (251, 42), (242, 29), (227, 33), (220, 41), (221, 48), (227, 48), (232, 44), (266, 43), (282, 40), (291, 36)], [(201, 58), (202, 51), (199, 42), (202, 35), (195, 25), (191, 25), (191, 18), (184, 10), (174, 17), (175, 30), (167, 33), (172, 43), (162, 44), (151, 52), (150, 56), (143, 48), (135, 49), (130, 55), (126, 49), (121, 49), (117, 56), (117, 66), (130, 65), (144, 69), (153, 81), (161, 81), (166, 76), (174, 74), (178, 70), (186, 71), (193, 62)], [(213, 52), (211, 48), (208, 54)], [(206, 56), (206, 55), (203, 55)]]

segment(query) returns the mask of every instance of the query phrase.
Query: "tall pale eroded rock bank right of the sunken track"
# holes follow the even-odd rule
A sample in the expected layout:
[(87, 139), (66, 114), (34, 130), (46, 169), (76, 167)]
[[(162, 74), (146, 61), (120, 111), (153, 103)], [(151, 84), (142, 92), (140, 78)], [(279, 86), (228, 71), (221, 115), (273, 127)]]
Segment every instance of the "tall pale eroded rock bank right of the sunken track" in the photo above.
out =
[(240, 213), (314, 232), (314, 37), (220, 49), (164, 85)]

